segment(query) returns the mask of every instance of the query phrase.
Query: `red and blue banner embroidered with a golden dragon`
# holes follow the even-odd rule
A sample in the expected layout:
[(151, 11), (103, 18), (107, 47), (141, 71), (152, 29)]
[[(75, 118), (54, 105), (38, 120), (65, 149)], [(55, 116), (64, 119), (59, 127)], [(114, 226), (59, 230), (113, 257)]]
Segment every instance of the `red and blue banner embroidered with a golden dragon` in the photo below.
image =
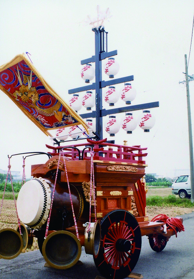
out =
[(48, 130), (72, 125), (83, 125), (84, 120), (45, 82), (34, 66), (18, 55), (0, 67), (0, 89), (46, 135)]

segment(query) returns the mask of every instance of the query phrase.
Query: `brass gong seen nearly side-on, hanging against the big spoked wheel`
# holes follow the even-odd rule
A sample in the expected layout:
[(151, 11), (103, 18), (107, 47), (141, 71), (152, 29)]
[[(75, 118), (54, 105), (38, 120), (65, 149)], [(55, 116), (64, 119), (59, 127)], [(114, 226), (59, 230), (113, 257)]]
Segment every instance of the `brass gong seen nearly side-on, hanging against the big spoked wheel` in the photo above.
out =
[(95, 223), (91, 223), (89, 232), (87, 232), (88, 226), (89, 223), (85, 229), (85, 252), (86, 254), (93, 255), (96, 258), (100, 249), (100, 221), (97, 220)]

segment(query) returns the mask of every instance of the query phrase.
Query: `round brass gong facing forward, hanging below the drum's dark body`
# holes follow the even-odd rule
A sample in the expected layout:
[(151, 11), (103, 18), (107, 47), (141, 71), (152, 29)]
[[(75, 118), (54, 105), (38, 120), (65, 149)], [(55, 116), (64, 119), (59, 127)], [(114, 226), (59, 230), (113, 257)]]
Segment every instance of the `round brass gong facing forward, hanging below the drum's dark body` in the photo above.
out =
[(79, 260), (81, 244), (71, 232), (63, 230), (52, 232), (42, 245), (42, 254), (51, 267), (67, 269)]

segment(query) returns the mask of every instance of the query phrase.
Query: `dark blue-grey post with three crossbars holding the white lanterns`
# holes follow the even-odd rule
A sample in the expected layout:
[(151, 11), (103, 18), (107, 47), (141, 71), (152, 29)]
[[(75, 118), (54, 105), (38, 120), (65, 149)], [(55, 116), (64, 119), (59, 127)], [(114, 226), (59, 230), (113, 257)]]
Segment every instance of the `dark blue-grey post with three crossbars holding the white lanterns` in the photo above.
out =
[[(84, 114), (80, 114), (82, 118), (96, 118), (96, 138), (98, 140), (103, 139), (103, 123), (102, 123), (102, 117), (108, 115), (108, 114), (115, 114), (115, 113), (121, 113), (121, 112), (128, 112), (133, 110), (142, 110), (142, 109), (148, 109), (148, 108), (156, 108), (159, 107), (159, 102), (152, 102), (147, 104), (139, 104), (135, 106), (126, 106), (122, 108), (114, 108), (110, 110), (102, 109), (102, 88), (114, 84), (124, 83), (124, 82), (130, 82), (134, 80), (134, 76), (126, 76), (121, 77), (109, 81), (102, 80), (102, 60), (108, 57), (112, 57), (117, 55), (117, 50), (109, 51), (107, 52), (107, 45), (106, 47), (102, 43), (103, 41), (103, 32), (105, 32), (104, 27), (99, 26), (92, 29), (92, 31), (95, 33), (95, 55), (93, 55), (90, 58), (81, 60), (81, 65), (87, 64), (87, 63), (94, 63), (95, 62), (95, 82), (92, 84), (89, 84), (87, 86), (82, 86), (78, 88), (73, 88), (68, 90), (68, 94), (74, 94), (79, 93), (87, 90), (95, 90), (95, 103), (96, 103), (96, 110), (92, 112), (87, 112)], [(107, 36), (106, 32), (106, 36)], [(106, 40), (107, 42), (107, 40)], [(104, 50), (106, 49), (106, 51)]]

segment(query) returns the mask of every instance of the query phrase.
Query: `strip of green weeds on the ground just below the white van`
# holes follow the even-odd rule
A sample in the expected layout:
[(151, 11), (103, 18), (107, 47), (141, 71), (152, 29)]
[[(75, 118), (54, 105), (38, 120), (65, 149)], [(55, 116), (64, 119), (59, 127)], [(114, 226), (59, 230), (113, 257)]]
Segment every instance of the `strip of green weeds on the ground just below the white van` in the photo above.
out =
[(179, 206), (179, 207), (194, 207), (190, 199), (177, 199), (174, 195), (167, 197), (151, 196), (146, 198), (147, 206)]

